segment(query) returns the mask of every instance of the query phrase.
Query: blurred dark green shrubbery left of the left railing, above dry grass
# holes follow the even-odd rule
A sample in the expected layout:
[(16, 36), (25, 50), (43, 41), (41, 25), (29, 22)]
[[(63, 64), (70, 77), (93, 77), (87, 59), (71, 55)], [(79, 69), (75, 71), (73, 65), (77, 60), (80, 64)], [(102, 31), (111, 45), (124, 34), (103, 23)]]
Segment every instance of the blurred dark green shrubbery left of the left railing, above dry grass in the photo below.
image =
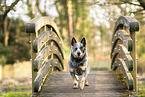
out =
[(25, 23), (20, 19), (12, 19), (12, 23), (15, 26), (11, 26), (8, 46), (4, 46), (4, 34), (0, 34), (0, 58), (3, 65), (30, 59), (29, 35), (25, 32)]

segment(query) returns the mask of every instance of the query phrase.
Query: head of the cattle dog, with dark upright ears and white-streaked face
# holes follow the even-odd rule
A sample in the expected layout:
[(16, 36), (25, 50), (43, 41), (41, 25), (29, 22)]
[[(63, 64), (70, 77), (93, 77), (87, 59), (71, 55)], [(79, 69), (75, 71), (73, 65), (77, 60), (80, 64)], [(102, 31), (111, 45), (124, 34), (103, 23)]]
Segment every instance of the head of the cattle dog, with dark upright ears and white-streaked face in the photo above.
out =
[(77, 42), (73, 37), (71, 42), (71, 54), (77, 58), (81, 59), (86, 53), (86, 39), (83, 37), (81, 42)]

